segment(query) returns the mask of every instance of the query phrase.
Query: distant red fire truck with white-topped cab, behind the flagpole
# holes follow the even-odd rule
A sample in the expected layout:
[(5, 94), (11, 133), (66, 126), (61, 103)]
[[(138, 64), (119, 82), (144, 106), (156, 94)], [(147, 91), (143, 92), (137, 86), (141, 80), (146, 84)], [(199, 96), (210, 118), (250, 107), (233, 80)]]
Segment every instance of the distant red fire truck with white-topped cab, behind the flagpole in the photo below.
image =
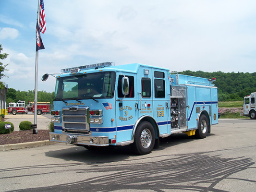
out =
[[(42, 113), (49, 113), (50, 102), (37, 102), (37, 115)], [(28, 106), (25, 107), (25, 101), (18, 101), (17, 103), (9, 103), (8, 113), (16, 115), (17, 113), (34, 113), (35, 103), (29, 102)]]

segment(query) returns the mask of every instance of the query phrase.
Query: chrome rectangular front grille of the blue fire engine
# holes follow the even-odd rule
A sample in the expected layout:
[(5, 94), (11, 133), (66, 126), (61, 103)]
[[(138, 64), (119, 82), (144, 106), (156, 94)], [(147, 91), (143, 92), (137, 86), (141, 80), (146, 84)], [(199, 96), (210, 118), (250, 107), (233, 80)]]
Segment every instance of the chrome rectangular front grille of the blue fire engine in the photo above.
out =
[(89, 107), (62, 108), (63, 132), (90, 132)]

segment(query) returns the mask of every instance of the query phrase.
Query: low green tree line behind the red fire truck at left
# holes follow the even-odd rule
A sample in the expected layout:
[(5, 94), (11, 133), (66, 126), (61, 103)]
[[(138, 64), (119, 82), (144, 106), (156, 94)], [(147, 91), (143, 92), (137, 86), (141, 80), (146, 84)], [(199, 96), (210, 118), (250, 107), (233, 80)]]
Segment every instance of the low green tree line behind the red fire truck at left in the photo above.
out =
[[(47, 101), (50, 104), (53, 104), (54, 92), (47, 93), (46, 91), (38, 91), (37, 92), (37, 101)], [(13, 88), (9, 88), (6, 94), (6, 103), (17, 103), (17, 101), (25, 101), (25, 103), (29, 103), (29, 101), (34, 101), (35, 91), (16, 91)]]

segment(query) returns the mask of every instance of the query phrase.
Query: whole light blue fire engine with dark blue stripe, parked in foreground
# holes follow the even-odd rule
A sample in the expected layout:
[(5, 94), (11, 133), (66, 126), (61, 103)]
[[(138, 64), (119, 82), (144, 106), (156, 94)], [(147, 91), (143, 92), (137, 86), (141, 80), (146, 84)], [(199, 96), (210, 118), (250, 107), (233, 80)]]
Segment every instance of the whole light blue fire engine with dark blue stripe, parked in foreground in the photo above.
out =
[[(205, 138), (218, 124), (215, 79), (170, 74), (145, 64), (111, 62), (57, 75), (50, 141), (93, 148), (128, 145), (139, 155), (159, 138), (185, 132)], [(45, 81), (49, 74), (45, 74)]]

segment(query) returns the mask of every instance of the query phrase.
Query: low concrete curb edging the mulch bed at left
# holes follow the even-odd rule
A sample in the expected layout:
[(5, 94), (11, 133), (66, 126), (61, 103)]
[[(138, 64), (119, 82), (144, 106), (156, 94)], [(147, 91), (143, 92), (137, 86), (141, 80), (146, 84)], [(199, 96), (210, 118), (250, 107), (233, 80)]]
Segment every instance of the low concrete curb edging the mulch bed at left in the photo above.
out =
[(36, 141), (36, 142), (27, 142), (21, 144), (3, 144), (0, 145), (0, 151), (14, 150), (14, 149), (24, 149), (27, 147), (36, 147), (42, 145), (53, 144), (54, 142), (45, 140), (45, 141)]

